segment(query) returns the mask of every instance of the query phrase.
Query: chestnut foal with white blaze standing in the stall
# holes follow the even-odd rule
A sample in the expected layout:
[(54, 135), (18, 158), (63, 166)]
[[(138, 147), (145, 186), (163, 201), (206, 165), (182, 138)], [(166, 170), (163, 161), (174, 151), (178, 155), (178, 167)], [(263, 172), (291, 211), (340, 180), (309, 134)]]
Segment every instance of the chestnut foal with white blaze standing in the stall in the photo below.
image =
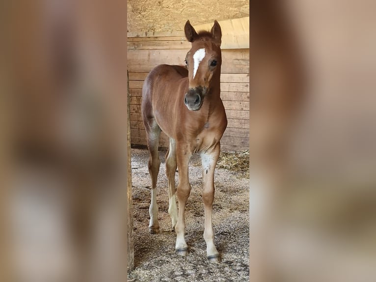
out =
[[(151, 233), (159, 232), (156, 200), (159, 136), (163, 131), (170, 144), (166, 154), (166, 174), (169, 188), (168, 213), (176, 231), (175, 251), (188, 254), (184, 235), (184, 210), (190, 193), (188, 163), (193, 153), (200, 153), (203, 169), (203, 201), (205, 205), (204, 238), (207, 257), (219, 262), (214, 245), (212, 204), (214, 170), (220, 151), (220, 139), (227, 126), (226, 113), (220, 99), (221, 29), (215, 21), (210, 32), (198, 34), (187, 21), (185, 34), (192, 48), (187, 53), (186, 68), (159, 65), (145, 79), (142, 87), (141, 111), (150, 152), (149, 172), (152, 179), (152, 199), (149, 208)], [(175, 171), (179, 167), (179, 184), (175, 189)], [(178, 196), (179, 212), (176, 206)]]

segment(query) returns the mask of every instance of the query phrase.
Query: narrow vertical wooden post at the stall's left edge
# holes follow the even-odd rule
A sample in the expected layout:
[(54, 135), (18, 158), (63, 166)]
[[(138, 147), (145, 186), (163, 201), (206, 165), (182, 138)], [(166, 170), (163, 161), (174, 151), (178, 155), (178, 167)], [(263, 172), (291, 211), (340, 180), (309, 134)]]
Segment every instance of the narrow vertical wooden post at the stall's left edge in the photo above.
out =
[(134, 244), (133, 244), (133, 203), (132, 203), (132, 162), (131, 162), (131, 114), (129, 98), (129, 75), (127, 71), (127, 136), (128, 136), (128, 187), (127, 187), (127, 207), (128, 207), (128, 273), (134, 269)]

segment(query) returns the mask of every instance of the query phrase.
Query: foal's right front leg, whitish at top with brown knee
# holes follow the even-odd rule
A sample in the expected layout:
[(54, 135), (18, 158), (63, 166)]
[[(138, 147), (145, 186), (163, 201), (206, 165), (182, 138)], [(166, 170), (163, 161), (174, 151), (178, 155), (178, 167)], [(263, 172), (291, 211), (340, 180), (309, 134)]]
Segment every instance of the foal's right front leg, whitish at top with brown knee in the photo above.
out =
[(202, 193), (205, 208), (205, 231), (206, 255), (211, 262), (220, 262), (220, 256), (214, 245), (214, 233), (212, 224), (212, 207), (214, 199), (214, 170), (219, 157), (220, 144), (212, 150), (201, 153), (202, 179), (204, 190)]

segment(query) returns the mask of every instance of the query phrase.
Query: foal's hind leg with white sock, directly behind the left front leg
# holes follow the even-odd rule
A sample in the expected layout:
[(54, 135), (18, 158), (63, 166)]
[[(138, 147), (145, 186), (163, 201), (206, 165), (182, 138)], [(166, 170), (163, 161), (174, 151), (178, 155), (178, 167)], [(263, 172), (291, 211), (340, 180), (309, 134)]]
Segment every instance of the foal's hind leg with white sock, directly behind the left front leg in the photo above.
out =
[(176, 205), (176, 188), (175, 188), (175, 172), (178, 165), (176, 162), (176, 142), (170, 138), (170, 145), (166, 153), (166, 174), (168, 179), (168, 214), (171, 217), (172, 229), (175, 229), (178, 222), (178, 207)]

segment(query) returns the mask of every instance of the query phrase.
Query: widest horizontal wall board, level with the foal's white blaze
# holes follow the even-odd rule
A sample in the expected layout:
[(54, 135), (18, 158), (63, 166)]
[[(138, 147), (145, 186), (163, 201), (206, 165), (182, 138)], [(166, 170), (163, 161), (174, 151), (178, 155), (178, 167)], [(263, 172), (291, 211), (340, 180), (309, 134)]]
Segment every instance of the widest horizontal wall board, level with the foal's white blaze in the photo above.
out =
[[(129, 50), (128, 70), (149, 72), (166, 62), (183, 65), (186, 54), (186, 50)], [(249, 73), (249, 49), (222, 50), (221, 69), (223, 73)]]

